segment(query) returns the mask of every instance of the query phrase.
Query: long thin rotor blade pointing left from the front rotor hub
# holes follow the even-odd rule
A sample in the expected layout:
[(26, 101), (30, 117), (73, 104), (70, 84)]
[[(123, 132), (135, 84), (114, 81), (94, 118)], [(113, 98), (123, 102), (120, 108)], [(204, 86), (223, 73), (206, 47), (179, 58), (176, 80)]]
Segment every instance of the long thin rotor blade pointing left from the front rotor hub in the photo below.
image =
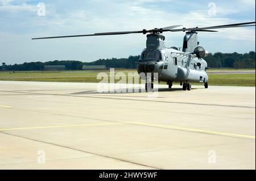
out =
[(37, 37), (32, 40), (39, 39), (60, 39), (65, 37), (82, 37), (82, 36), (104, 36), (104, 35), (126, 35), (131, 33), (143, 33), (143, 31), (121, 31), (121, 32), (106, 32), (106, 33), (94, 33), (89, 35), (71, 35), (71, 36), (51, 36), (51, 37)]

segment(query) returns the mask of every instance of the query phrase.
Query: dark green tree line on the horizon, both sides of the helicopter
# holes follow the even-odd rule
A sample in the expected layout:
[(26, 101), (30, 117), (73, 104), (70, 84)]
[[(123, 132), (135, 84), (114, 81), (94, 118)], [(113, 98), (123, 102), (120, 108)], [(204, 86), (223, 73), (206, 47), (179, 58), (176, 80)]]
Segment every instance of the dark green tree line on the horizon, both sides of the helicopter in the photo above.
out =
[[(204, 58), (210, 68), (255, 68), (255, 52), (239, 53), (210, 53)], [(92, 62), (71, 60), (55, 60), (47, 62), (25, 62), (24, 64), (5, 65), (0, 70), (31, 71), (44, 70), (45, 65), (65, 65), (66, 70), (82, 70), (84, 65), (105, 65), (107, 68), (136, 69), (139, 56), (129, 58), (100, 59)]]

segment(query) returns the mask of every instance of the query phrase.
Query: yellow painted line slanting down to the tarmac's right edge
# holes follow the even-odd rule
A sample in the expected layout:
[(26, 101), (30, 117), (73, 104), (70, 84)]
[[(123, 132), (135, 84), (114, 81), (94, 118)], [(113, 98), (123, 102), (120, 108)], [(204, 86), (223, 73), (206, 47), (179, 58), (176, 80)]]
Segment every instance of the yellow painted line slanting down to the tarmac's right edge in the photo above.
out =
[(189, 131), (189, 132), (196, 132), (196, 133), (216, 134), (216, 135), (220, 135), (220, 136), (232, 136), (232, 137), (255, 139), (255, 136), (248, 136), (248, 135), (244, 135), (244, 134), (233, 134), (233, 133), (224, 133), (224, 132), (216, 132), (216, 131), (207, 131), (207, 130), (202, 130), (202, 129), (172, 127), (172, 126), (168, 126), (168, 125), (150, 124), (150, 123), (139, 123), (139, 122), (130, 122), (130, 123), (138, 124), (138, 125), (148, 125), (148, 126), (154, 126), (154, 127), (170, 128), (170, 129), (175, 129), (177, 131)]

